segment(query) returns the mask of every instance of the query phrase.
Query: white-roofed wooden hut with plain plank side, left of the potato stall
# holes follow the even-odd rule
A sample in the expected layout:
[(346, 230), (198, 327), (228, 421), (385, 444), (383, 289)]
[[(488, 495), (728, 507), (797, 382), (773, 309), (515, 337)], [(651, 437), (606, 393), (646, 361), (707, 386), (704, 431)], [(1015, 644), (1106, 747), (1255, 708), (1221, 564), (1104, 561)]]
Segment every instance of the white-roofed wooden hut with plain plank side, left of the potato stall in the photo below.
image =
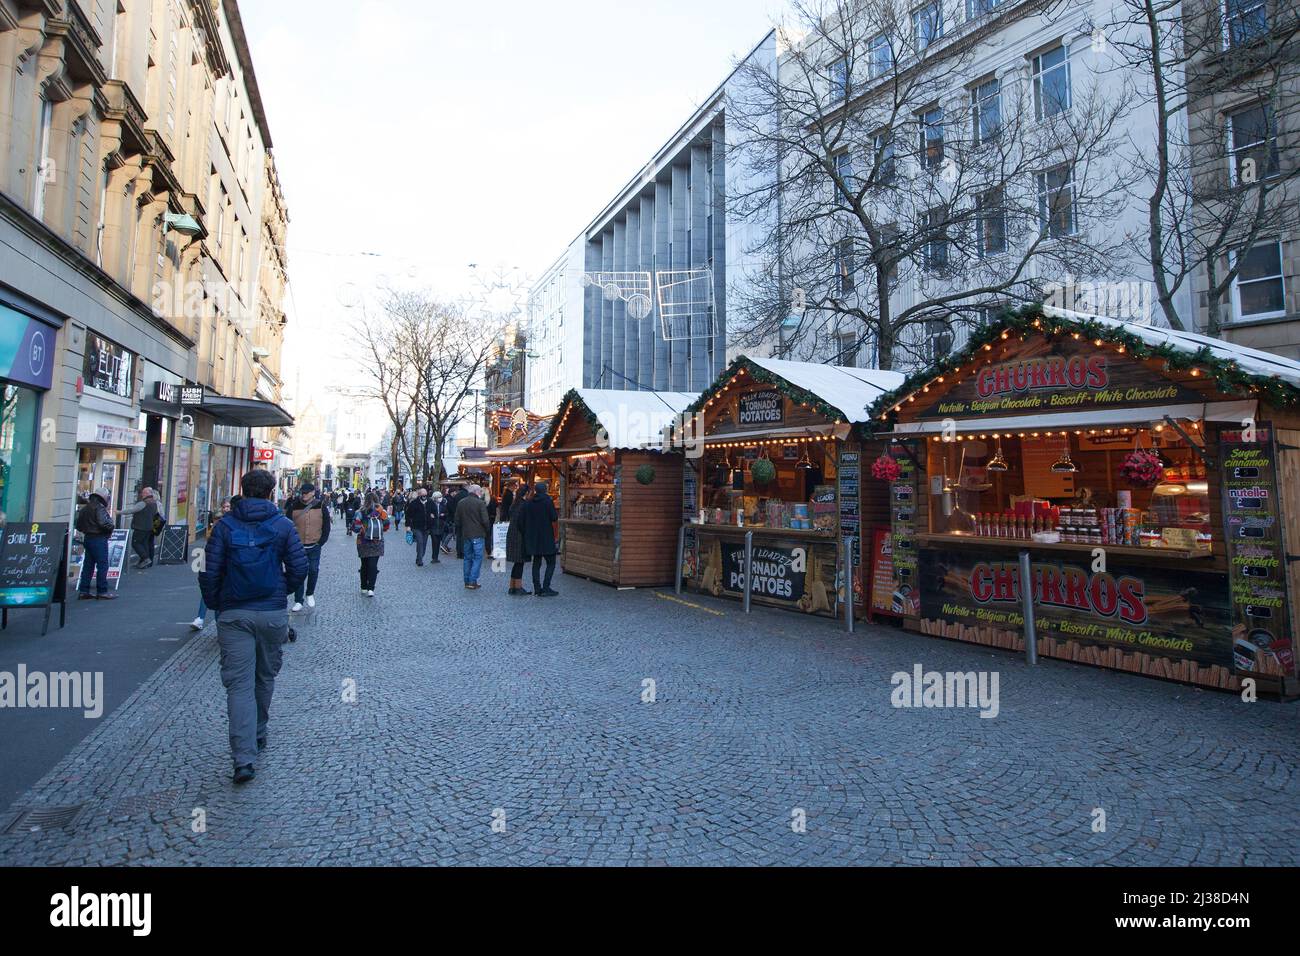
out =
[(672, 583), (684, 455), (664, 437), (694, 398), (601, 389), (564, 397), (542, 447), (560, 476), (566, 574), (618, 588)]

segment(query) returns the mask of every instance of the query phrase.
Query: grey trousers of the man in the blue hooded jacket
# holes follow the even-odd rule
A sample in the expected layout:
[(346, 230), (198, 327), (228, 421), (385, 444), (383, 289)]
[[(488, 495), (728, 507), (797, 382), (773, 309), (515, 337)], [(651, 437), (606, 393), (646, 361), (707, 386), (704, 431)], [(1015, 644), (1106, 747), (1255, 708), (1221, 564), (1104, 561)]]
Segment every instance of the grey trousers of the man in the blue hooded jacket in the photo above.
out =
[(266, 735), (287, 640), (289, 611), (229, 610), (217, 618), (230, 756), (237, 767), (257, 762), (257, 740)]

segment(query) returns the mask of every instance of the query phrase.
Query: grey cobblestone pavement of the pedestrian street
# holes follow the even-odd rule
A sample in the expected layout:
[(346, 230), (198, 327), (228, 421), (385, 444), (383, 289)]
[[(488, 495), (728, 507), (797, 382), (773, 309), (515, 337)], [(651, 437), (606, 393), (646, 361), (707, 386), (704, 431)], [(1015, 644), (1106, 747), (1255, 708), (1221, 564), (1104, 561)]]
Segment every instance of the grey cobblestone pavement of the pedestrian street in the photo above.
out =
[[(398, 536), (377, 598), (355, 564), (326, 549), (256, 782), (209, 630), (0, 814), (82, 806), (0, 864), (1300, 862), (1296, 706), (572, 578), (467, 592)], [(1000, 714), (894, 709), (916, 663), (997, 671)]]

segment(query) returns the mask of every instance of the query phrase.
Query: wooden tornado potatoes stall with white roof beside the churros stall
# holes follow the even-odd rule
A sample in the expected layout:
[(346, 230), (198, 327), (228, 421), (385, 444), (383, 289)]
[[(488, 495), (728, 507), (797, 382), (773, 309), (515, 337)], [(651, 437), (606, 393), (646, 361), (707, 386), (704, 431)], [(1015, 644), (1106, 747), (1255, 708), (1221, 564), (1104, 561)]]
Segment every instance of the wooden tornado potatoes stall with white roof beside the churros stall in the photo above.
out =
[(879, 369), (737, 359), (682, 436), (686, 585), (826, 617), (844, 614), (852, 592), (854, 617), (864, 613), (863, 541), (888, 503), (863, 481), (879, 444), (854, 427), (901, 384)]

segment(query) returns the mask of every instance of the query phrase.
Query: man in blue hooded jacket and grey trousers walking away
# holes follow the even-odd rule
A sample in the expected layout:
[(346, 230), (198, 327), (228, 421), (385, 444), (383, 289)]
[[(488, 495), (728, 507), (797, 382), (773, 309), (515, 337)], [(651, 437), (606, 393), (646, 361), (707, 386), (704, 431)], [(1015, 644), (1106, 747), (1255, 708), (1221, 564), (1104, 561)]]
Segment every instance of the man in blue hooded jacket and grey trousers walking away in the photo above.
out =
[(266, 748), (270, 698), (289, 640), (285, 605), (307, 579), (307, 554), (294, 523), (272, 501), (270, 472), (248, 472), (240, 490), (208, 536), (199, 587), (217, 614), (235, 783), (248, 783)]

